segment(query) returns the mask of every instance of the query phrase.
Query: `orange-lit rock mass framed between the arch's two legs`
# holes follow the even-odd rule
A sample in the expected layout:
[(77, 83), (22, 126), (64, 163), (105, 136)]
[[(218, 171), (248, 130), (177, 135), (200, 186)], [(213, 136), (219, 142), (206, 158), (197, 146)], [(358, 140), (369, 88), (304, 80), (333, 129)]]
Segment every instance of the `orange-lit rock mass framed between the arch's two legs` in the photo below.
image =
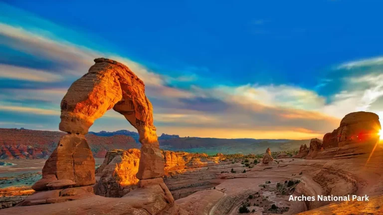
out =
[(109, 151), (96, 170), (94, 192), (104, 197), (122, 197), (135, 188), (141, 152), (139, 149)]

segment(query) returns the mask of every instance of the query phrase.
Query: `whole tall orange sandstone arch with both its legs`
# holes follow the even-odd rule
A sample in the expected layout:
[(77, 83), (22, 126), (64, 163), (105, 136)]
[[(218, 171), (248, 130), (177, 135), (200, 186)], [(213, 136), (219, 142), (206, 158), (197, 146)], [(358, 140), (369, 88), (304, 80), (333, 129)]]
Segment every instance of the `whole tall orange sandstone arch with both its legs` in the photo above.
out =
[(136, 177), (145, 180), (164, 176), (153, 107), (145, 96), (143, 81), (121, 63), (105, 58), (94, 61), (61, 101), (59, 129), (68, 134), (62, 136), (46, 161), (43, 179), (36, 182), (35, 190), (50, 189), (52, 183), (57, 188), (95, 183), (95, 162), (84, 134), (111, 108), (124, 115), (140, 134), (141, 159)]

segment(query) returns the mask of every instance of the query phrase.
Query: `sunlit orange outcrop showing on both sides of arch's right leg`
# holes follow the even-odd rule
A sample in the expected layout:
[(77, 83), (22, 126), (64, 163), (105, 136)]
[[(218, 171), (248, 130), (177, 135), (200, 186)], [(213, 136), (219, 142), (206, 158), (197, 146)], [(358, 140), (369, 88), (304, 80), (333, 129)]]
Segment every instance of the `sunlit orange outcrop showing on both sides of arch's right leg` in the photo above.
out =
[[(203, 153), (161, 151), (164, 158), (166, 176), (184, 173), (189, 168), (212, 166), (224, 160), (222, 154), (209, 157)], [(122, 197), (137, 188), (139, 180), (140, 150), (111, 150), (104, 162), (96, 170), (96, 184), (93, 186), (97, 195), (104, 197)]]

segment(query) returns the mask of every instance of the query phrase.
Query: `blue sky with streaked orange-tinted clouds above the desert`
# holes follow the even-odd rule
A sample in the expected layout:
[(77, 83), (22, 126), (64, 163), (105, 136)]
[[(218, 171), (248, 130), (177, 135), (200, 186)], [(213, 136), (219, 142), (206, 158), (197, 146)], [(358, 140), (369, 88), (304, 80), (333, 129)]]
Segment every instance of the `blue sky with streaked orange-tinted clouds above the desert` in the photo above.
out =
[[(301, 139), (349, 112), (382, 118), (382, 4), (0, 2), (0, 127), (57, 130), (97, 57), (145, 82), (159, 134)], [(112, 111), (91, 130), (134, 130)]]

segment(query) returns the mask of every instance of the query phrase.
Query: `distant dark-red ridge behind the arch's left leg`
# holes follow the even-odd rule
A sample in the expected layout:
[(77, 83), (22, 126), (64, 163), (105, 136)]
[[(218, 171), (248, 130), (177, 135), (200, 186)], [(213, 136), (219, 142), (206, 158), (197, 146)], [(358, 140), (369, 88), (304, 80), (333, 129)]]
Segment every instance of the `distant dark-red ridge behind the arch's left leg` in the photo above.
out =
[[(0, 159), (47, 159), (64, 132), (0, 128)], [(104, 158), (115, 148), (139, 148), (133, 137), (126, 135), (97, 136), (86, 134), (92, 154)]]

